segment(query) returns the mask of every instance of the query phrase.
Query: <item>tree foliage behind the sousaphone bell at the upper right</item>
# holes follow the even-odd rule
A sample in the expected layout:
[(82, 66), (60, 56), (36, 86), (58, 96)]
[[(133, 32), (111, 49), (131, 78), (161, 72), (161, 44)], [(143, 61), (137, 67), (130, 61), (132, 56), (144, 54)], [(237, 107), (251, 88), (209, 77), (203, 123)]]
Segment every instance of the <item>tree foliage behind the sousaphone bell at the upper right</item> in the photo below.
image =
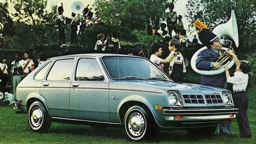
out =
[[(252, 0), (189, 0), (186, 5), (189, 27), (196, 19), (204, 22), (208, 28), (228, 21), (231, 10), (235, 11), (239, 33), (239, 50), (254, 48), (256, 7)], [(243, 51), (244, 52), (244, 51)]]

